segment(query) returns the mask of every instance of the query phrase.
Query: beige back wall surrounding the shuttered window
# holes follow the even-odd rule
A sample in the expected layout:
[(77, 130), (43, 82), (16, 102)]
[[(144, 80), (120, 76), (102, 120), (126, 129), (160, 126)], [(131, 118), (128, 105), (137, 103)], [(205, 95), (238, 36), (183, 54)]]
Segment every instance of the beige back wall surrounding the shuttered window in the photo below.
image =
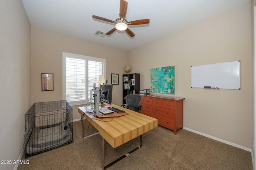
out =
[[(101, 39), (102, 37), (98, 37)], [(105, 37), (107, 38), (107, 37)], [(106, 80), (111, 73), (122, 81), (128, 52), (75, 37), (31, 27), (31, 105), (35, 102), (62, 100), (62, 52), (106, 59)], [(41, 73), (54, 74), (54, 90), (42, 92)], [(113, 86), (113, 103), (122, 104), (122, 83)], [(79, 119), (78, 106), (73, 107), (73, 119)]]

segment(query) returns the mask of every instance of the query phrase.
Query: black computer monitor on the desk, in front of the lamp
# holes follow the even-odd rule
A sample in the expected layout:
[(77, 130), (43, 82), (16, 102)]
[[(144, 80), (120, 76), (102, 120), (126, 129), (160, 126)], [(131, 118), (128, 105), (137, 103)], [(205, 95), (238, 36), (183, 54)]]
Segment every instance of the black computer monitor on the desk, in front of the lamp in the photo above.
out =
[(112, 88), (112, 84), (100, 84), (100, 101), (111, 104)]

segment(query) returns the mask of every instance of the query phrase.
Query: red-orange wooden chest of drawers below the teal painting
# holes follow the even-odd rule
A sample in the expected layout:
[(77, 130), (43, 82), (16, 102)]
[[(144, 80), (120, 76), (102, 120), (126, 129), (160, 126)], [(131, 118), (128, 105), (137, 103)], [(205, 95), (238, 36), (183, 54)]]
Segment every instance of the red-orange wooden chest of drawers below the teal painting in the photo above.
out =
[(165, 98), (142, 95), (140, 113), (158, 119), (158, 125), (176, 132), (183, 129), (183, 100), (185, 98)]

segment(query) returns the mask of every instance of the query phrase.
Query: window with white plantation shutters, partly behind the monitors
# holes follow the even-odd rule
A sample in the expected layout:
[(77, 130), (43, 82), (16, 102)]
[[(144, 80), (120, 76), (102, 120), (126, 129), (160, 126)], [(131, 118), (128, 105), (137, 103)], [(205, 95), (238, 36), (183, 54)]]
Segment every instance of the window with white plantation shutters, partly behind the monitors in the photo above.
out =
[(93, 83), (98, 86), (99, 76), (105, 76), (106, 60), (63, 53), (63, 100), (70, 105), (88, 103), (92, 98)]

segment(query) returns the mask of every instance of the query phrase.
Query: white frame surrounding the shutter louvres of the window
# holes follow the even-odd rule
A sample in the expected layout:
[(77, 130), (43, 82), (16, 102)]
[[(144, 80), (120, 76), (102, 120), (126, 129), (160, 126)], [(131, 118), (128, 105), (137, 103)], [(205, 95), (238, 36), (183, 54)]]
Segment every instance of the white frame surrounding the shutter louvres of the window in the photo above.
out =
[[(85, 83), (86, 83), (85, 90), (86, 90), (86, 92), (89, 91), (89, 88), (88, 88), (88, 61), (102, 62), (103, 63), (103, 75), (106, 77), (106, 59), (62, 52), (62, 100), (66, 100), (66, 58), (85, 60)], [(95, 82), (95, 83), (97, 86), (98, 82)], [(71, 106), (92, 103), (92, 102), (90, 102), (90, 95), (88, 95), (88, 93), (86, 94), (85, 100), (68, 101), (68, 102)]]

